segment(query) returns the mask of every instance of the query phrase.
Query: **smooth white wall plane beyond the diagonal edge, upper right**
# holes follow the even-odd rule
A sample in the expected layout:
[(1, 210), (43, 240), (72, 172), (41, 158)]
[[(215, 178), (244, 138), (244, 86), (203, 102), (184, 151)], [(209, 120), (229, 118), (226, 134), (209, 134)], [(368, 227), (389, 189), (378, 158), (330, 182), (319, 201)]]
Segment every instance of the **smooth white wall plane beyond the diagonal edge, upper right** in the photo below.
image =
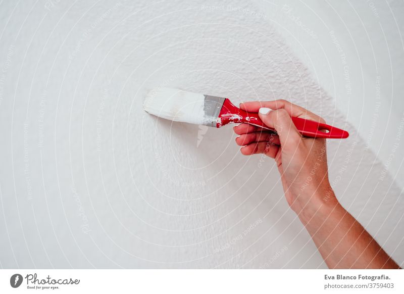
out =
[(293, 53), (404, 188), (404, 5), (276, 1), (260, 7)]

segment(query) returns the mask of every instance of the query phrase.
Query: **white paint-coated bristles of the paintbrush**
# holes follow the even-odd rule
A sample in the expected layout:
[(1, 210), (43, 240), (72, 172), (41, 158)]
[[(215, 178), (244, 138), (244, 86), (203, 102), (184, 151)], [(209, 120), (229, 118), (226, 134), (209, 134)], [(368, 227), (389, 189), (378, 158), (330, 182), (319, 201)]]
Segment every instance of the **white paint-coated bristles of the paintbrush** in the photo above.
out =
[(205, 124), (205, 95), (172, 88), (148, 92), (143, 109), (149, 114), (172, 121)]

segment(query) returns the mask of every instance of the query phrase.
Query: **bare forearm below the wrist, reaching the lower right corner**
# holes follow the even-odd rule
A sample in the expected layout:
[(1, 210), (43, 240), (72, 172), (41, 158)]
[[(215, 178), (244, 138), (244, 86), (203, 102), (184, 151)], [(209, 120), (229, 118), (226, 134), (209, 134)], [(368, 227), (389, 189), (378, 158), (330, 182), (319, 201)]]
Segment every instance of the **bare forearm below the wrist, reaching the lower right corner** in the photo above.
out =
[(399, 268), (335, 198), (308, 207), (299, 218), (329, 268)]

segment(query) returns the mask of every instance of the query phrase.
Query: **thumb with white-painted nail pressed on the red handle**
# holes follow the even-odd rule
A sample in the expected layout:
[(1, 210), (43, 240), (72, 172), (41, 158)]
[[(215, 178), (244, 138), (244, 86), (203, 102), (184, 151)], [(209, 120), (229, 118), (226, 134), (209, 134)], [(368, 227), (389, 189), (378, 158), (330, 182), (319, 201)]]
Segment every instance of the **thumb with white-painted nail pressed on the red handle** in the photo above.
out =
[(260, 108), (258, 115), (264, 124), (276, 130), (283, 149), (287, 146), (296, 146), (300, 141), (301, 135), (286, 110), (271, 111), (263, 107)]

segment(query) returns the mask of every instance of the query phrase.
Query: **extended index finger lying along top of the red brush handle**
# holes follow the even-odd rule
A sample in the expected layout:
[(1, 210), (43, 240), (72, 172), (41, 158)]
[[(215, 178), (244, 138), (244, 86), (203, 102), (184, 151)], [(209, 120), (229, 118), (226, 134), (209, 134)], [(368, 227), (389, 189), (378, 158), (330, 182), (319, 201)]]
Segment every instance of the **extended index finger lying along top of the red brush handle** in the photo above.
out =
[(258, 112), (262, 107), (267, 107), (272, 110), (284, 109), (290, 116), (325, 123), (325, 120), (322, 117), (312, 113), (311, 111), (308, 111), (305, 108), (302, 108), (298, 105), (282, 99), (274, 101), (251, 101), (240, 104), (240, 108), (247, 112)]

